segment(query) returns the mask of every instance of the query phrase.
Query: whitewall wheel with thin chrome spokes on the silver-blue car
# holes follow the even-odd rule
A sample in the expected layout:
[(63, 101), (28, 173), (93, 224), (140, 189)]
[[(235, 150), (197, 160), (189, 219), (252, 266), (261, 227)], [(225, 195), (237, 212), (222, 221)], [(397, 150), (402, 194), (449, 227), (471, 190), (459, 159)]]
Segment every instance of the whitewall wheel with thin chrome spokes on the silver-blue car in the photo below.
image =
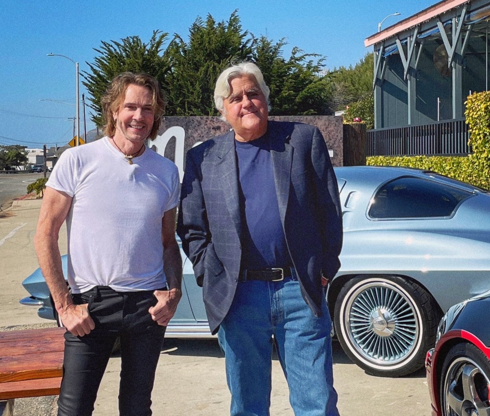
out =
[(369, 374), (383, 377), (423, 367), (439, 318), (439, 308), (423, 288), (395, 276), (350, 279), (334, 313), (345, 353)]

